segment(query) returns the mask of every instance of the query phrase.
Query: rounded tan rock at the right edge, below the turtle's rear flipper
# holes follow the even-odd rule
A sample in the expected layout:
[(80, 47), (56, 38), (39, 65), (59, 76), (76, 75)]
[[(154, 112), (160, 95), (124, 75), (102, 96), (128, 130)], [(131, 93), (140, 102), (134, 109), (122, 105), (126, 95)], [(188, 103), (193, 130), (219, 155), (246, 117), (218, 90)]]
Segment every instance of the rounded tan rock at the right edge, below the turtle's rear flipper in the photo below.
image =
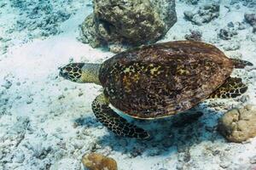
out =
[(256, 136), (256, 106), (247, 105), (224, 114), (218, 130), (230, 142), (242, 142)]

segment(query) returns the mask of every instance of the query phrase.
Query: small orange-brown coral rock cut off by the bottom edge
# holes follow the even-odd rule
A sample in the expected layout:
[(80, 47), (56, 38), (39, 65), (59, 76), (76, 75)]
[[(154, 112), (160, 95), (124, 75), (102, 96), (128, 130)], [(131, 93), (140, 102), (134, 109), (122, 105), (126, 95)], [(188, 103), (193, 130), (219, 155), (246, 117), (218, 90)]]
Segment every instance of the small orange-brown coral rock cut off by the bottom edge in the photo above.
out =
[(84, 155), (82, 158), (84, 167), (89, 170), (117, 170), (117, 163), (113, 158), (91, 153)]

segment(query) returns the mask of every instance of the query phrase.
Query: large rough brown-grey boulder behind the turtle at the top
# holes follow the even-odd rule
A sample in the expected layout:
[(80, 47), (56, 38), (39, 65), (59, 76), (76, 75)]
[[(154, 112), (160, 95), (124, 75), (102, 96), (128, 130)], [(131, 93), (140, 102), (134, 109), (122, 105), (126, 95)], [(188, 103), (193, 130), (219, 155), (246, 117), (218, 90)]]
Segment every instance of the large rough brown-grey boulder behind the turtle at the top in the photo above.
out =
[(94, 0), (94, 12), (81, 25), (92, 47), (155, 42), (177, 21), (174, 0)]

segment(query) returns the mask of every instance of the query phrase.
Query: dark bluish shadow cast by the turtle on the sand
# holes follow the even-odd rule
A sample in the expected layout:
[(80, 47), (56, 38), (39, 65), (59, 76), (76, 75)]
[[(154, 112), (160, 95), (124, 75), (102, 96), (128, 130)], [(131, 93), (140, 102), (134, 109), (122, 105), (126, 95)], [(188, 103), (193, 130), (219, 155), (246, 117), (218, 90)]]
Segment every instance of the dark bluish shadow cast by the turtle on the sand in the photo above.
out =
[[(151, 121), (127, 119), (125, 116), (129, 122), (146, 129), (151, 138), (146, 140), (124, 138), (109, 131), (107, 135), (97, 139), (97, 144), (102, 147), (111, 147), (114, 151), (132, 157), (171, 156), (174, 152), (186, 151), (190, 146), (204, 141), (216, 142), (223, 139), (216, 129), (221, 114), (202, 107), (203, 105), (199, 105), (175, 116)], [(89, 127), (102, 126), (101, 123), (96, 123), (96, 118), (95, 120), (88, 119), (90, 118), (84, 117), (75, 122), (80, 122), (79, 126), (88, 126), (88, 123), (90, 123)]]

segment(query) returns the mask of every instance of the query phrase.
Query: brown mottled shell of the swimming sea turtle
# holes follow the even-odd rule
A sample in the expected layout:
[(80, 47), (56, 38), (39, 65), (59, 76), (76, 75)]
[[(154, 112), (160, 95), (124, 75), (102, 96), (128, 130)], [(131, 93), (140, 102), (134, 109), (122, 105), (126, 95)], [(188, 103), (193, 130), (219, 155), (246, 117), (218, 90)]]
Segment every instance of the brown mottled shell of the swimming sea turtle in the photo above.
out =
[(164, 42), (107, 59), (99, 79), (109, 102), (142, 119), (172, 116), (197, 105), (221, 86), (232, 61), (204, 42)]

